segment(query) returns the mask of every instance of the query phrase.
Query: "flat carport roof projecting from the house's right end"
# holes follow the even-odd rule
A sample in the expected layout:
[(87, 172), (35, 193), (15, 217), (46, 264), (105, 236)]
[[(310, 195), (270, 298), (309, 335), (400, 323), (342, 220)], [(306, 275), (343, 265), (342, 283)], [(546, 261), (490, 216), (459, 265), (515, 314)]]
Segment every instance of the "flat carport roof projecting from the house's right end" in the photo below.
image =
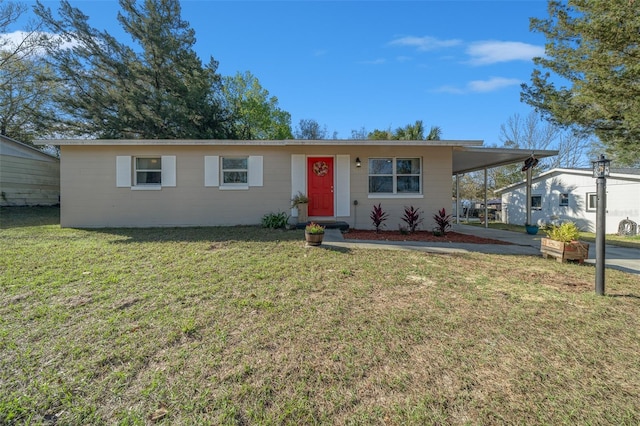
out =
[(459, 146), (453, 148), (452, 172), (455, 175), (520, 163), (531, 155), (541, 159), (558, 155), (558, 151)]

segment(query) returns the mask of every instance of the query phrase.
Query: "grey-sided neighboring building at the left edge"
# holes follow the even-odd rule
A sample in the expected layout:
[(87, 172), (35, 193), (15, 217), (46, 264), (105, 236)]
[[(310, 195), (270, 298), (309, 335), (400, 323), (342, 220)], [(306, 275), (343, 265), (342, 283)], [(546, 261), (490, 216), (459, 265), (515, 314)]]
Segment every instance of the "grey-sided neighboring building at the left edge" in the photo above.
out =
[(0, 135), (0, 205), (55, 205), (60, 202), (60, 160)]

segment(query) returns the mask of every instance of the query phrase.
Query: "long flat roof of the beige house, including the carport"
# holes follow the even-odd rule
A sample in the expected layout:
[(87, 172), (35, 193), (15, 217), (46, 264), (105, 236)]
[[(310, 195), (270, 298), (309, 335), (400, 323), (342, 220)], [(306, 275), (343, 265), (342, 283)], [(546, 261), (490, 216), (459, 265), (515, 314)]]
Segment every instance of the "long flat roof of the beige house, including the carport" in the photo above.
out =
[[(483, 148), (482, 140), (358, 140), (358, 139), (285, 139), (285, 140), (228, 140), (228, 139), (58, 139), (38, 140), (37, 145), (243, 145), (243, 146), (450, 146), (453, 147), (453, 174), (469, 173), (485, 168), (523, 162), (532, 150)], [(551, 157), (555, 150), (533, 151), (536, 158)]]

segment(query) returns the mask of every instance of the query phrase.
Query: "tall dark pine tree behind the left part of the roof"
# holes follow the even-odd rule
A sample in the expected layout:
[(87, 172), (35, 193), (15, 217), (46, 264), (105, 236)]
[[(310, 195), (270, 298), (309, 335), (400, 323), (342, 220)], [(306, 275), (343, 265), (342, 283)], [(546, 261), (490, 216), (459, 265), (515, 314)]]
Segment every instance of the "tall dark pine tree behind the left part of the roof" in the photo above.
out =
[[(98, 31), (67, 0), (60, 18), (36, 13), (69, 49), (50, 50), (65, 91), (56, 97), (69, 130), (100, 138), (224, 138), (218, 63), (203, 66), (178, 0), (119, 0), (118, 20), (137, 45)], [(138, 3), (142, 3), (138, 5)]]

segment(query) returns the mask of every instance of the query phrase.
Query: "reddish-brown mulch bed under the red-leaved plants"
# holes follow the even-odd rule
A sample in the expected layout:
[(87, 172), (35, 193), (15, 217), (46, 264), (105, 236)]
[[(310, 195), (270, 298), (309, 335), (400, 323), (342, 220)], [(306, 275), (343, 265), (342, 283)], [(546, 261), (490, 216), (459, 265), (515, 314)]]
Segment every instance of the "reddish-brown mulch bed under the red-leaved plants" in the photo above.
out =
[(490, 238), (476, 237), (474, 235), (447, 232), (443, 236), (435, 236), (431, 231), (416, 231), (412, 234), (403, 234), (400, 231), (370, 231), (364, 229), (350, 229), (343, 234), (346, 240), (376, 240), (376, 241), (425, 241), (434, 243), (468, 243), (468, 244), (502, 244), (505, 241), (492, 240)]

